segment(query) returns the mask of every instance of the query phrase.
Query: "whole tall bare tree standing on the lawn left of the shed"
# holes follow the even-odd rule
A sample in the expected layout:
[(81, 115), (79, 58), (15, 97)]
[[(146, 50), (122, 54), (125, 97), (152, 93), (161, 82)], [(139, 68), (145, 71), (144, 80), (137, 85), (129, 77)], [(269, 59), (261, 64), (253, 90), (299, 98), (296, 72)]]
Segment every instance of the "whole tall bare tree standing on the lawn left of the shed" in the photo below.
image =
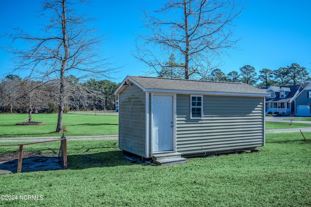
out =
[(18, 70), (29, 70), (29, 78), (56, 80), (58, 84), (56, 132), (62, 131), (66, 75), (79, 74), (80, 79), (88, 75), (107, 77), (112, 71), (100, 49), (104, 34), (97, 35), (98, 31), (90, 27), (95, 19), (76, 12), (81, 3), (86, 4), (86, 1), (45, 0), (42, 16), (48, 24), (41, 33), (35, 36), (16, 28), (14, 34), (8, 35), (15, 42), (21, 40), (31, 46), (18, 49), (11, 45), (10, 52), (15, 54)]

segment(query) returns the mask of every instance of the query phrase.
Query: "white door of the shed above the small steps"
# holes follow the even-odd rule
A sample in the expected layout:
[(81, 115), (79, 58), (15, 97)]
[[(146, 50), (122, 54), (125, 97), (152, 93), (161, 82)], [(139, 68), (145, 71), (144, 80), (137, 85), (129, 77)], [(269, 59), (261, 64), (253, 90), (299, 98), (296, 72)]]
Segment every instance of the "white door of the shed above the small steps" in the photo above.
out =
[(173, 150), (173, 96), (154, 95), (152, 100), (153, 152)]

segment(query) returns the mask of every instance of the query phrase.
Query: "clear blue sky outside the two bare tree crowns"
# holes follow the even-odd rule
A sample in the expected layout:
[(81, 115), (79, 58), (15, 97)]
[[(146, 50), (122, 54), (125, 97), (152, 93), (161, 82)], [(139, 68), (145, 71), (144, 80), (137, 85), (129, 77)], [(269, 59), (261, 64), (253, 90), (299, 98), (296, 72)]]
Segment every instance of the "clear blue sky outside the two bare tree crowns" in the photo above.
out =
[[(111, 37), (104, 43), (104, 57), (114, 66), (122, 66), (111, 79), (122, 81), (127, 75), (145, 75), (146, 65), (132, 56), (140, 28), (139, 9), (156, 10), (165, 0), (93, 0), (92, 16), (99, 17), (96, 27)], [(19, 27), (36, 33), (40, 21), (35, 17), (39, 0), (0, 0), (0, 32)], [(222, 57), (219, 68), (227, 74), (249, 64), (257, 73), (263, 68), (278, 69), (292, 63), (311, 68), (311, 1), (310, 0), (248, 0), (247, 8), (235, 21), (235, 35), (241, 40), (239, 49), (230, 49), (230, 57)], [(0, 39), (5, 47), (7, 40)], [(0, 78), (13, 67), (11, 54), (0, 50)], [(12, 73), (10, 73), (12, 74)], [(17, 73), (14, 73), (17, 74)], [(17, 74), (23, 77), (25, 74)]]

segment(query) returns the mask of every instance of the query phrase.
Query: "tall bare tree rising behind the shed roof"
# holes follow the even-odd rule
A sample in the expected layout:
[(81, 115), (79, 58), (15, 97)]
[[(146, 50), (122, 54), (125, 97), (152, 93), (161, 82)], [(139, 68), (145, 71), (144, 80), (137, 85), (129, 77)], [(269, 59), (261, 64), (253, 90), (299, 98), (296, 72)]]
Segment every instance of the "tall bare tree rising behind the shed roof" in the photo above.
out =
[(233, 37), (233, 21), (243, 9), (236, 0), (169, 0), (151, 15), (143, 10), (149, 30), (138, 35), (134, 56), (150, 67), (149, 72), (160, 74), (169, 66), (165, 60), (175, 54), (185, 79), (206, 77), (213, 61), (238, 41)]

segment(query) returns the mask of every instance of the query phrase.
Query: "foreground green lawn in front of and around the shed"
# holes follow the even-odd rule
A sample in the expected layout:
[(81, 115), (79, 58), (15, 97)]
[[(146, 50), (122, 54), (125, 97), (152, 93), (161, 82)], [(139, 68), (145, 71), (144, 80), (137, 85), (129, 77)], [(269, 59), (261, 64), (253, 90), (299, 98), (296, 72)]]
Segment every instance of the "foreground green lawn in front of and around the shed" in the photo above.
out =
[[(311, 133), (267, 134), (258, 153), (151, 166), (121, 156), (116, 141), (69, 141), (68, 170), (0, 175), (0, 206), (311, 206)], [(30, 146), (30, 145), (29, 145)], [(34, 146), (34, 145), (33, 145)]]

